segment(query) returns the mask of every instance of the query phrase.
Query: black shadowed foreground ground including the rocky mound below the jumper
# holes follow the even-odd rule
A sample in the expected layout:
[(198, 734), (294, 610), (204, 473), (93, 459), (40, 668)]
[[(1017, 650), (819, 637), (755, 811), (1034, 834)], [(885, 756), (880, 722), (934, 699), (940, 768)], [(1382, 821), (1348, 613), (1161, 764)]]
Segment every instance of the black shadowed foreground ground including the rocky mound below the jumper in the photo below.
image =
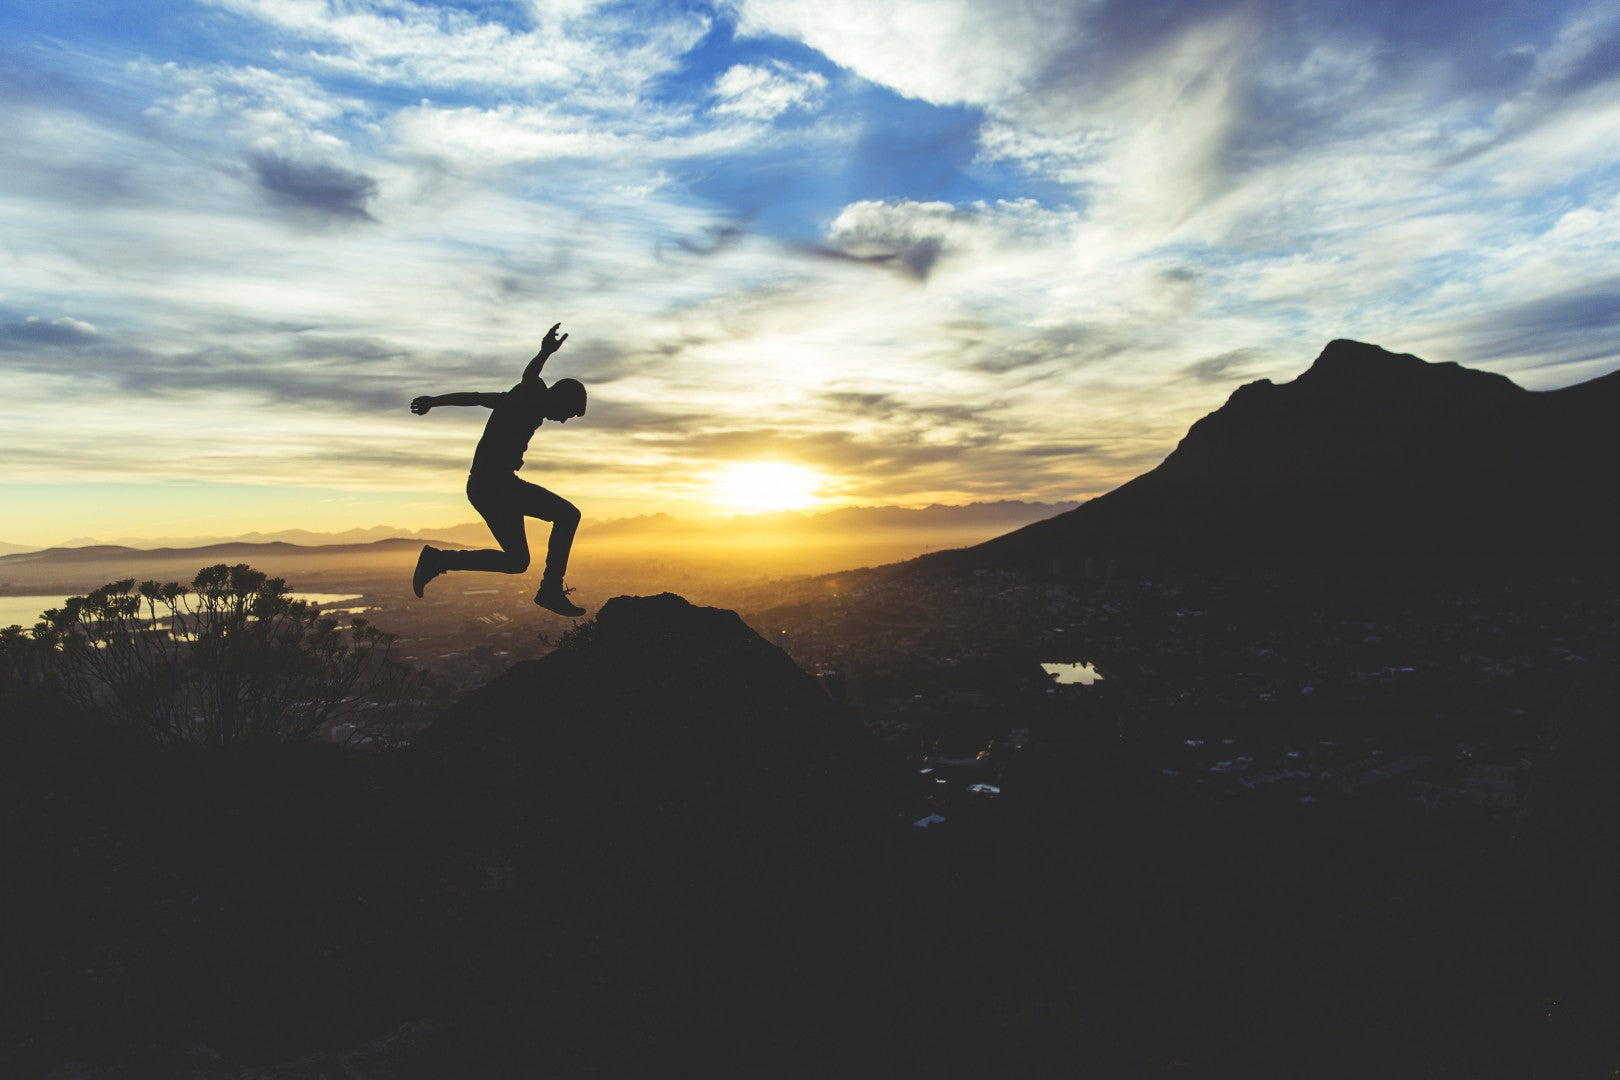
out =
[(904, 764), (679, 602), (403, 751), (13, 721), (0, 1072), (1614, 1077), (1620, 687), (1588, 659), (1511, 813), (1212, 798), (1116, 737), (917, 829)]

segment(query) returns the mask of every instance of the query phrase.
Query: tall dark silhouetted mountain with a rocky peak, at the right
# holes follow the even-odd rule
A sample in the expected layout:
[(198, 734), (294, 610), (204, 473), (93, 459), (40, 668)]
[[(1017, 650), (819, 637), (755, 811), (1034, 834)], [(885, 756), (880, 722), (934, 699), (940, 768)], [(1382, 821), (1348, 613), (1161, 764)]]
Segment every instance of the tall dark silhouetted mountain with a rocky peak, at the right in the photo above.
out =
[(915, 568), (1442, 567), (1617, 549), (1620, 372), (1529, 392), (1503, 376), (1330, 342), (1239, 387), (1165, 461), (1076, 510)]

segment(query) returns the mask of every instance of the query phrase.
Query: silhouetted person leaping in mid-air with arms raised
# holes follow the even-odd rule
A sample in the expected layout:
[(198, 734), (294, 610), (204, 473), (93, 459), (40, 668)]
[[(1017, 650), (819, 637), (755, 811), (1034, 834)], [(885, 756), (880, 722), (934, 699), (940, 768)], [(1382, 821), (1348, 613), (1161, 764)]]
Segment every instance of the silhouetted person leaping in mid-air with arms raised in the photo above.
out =
[(535, 431), (554, 419), (569, 423), (585, 416), (585, 387), (573, 379), (557, 379), (549, 387), (541, 381), (539, 369), (569, 340), (557, 329), (546, 332), (539, 351), (523, 369), (523, 379), (505, 393), (442, 393), (420, 397), (410, 403), (410, 411), (424, 415), (436, 405), (483, 405), (489, 410), (489, 423), (473, 452), (473, 468), (467, 474), (467, 500), (484, 518), (494, 534), (499, 551), (441, 551), (424, 544), (416, 557), (416, 573), (411, 589), (421, 596), (423, 586), (447, 570), (486, 570), (494, 573), (523, 573), (528, 570), (528, 536), (523, 518), (551, 521), (551, 542), (546, 546), (546, 570), (539, 578), (535, 602), (559, 615), (583, 615), (585, 609), (569, 599), (573, 589), (562, 588), (562, 575), (569, 568), (569, 549), (573, 531), (580, 526), (580, 512), (572, 502), (517, 478), (523, 468), (523, 452)]

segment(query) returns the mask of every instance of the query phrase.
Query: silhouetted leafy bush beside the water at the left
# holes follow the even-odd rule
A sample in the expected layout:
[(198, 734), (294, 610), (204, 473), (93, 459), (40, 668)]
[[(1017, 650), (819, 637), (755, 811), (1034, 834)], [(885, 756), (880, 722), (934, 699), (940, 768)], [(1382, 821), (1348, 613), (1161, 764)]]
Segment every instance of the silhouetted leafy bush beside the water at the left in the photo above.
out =
[(219, 563), (190, 588), (126, 578), (70, 597), (31, 633), (0, 635), (0, 675), (162, 743), (296, 740), (345, 722), (364, 737), (395, 730), (426, 678), (394, 659), (394, 640)]

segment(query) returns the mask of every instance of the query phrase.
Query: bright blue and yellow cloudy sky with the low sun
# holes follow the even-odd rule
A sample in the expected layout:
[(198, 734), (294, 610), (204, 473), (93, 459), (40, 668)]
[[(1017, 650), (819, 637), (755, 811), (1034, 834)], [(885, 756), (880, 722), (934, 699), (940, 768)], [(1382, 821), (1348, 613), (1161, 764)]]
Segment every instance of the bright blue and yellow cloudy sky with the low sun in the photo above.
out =
[(559, 321), (596, 520), (1085, 499), (1341, 337), (1568, 385), (1617, 147), (1615, 0), (10, 0), (0, 541), (471, 520), (407, 405)]

